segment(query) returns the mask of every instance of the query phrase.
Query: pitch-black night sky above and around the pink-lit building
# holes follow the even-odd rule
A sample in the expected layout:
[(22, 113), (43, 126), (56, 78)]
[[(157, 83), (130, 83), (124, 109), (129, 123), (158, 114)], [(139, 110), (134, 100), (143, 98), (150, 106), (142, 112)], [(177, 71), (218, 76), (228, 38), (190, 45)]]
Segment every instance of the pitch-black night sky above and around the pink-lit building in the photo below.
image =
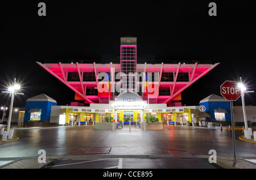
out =
[[(38, 16), (39, 2), (46, 3), (46, 16)], [(217, 4), (217, 16), (208, 15), (210, 2)], [(225, 80), (240, 76), (250, 91), (256, 88), (255, 10), (249, 1), (1, 1), (0, 8), (0, 91), (17, 78), (24, 95), (15, 96), (14, 106), (40, 93), (69, 104), (75, 93), (35, 62), (119, 55), (120, 37), (127, 35), (137, 37), (138, 55), (221, 63), (183, 91), (183, 104), (220, 95)], [(255, 99), (247, 93), (246, 104), (256, 105)], [(0, 105), (9, 103), (0, 93)]]

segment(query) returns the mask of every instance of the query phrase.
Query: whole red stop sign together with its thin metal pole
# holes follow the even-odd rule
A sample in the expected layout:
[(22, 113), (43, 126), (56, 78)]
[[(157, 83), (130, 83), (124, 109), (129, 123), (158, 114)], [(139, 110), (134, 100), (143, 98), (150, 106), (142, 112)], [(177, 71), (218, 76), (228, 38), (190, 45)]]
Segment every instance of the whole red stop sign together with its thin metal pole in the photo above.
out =
[(234, 151), (234, 161), (236, 158), (236, 144), (235, 144), (235, 134), (234, 134), (234, 114), (233, 114), (233, 101), (236, 101), (241, 96), (240, 88), (234, 81), (226, 80), (221, 84), (221, 95), (228, 101), (230, 101), (230, 113), (231, 113), (231, 123), (232, 123), (232, 139), (233, 139), (233, 151)]

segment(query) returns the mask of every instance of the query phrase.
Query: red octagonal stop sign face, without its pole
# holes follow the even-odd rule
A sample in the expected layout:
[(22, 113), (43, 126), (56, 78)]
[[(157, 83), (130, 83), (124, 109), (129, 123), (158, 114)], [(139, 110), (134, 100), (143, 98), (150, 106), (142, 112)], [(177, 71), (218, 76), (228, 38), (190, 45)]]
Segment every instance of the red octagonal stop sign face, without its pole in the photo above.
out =
[(238, 88), (236, 82), (226, 80), (221, 84), (221, 95), (225, 97), (226, 100), (236, 101), (241, 96), (240, 88)]

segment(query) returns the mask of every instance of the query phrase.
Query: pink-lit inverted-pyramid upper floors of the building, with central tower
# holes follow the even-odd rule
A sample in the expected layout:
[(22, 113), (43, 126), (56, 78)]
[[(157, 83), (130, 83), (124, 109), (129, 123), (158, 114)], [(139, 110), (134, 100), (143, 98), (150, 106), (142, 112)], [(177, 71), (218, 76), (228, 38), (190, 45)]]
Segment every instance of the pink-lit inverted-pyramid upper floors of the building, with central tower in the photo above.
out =
[[(38, 63), (75, 92), (85, 104), (108, 104), (121, 92), (137, 92), (150, 104), (175, 105), (181, 92), (219, 63), (137, 63), (137, 38), (121, 37), (120, 62)], [(171, 61), (170, 61), (171, 62)], [(102, 77), (110, 76), (102, 80)], [(109, 89), (110, 88), (110, 89)], [(104, 91), (102, 91), (104, 89)]]

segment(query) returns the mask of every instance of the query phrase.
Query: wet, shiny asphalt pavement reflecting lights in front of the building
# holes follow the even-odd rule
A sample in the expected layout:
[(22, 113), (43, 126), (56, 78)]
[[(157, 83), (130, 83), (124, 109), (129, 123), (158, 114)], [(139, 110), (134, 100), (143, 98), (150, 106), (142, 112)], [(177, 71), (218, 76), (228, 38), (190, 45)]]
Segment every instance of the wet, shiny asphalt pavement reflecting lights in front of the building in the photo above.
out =
[[(236, 156), (256, 157), (256, 144), (238, 139), (241, 130), (235, 133)], [(210, 149), (217, 156), (233, 156), (232, 132), (218, 128), (164, 125), (163, 130), (143, 131), (132, 126), (129, 131), (125, 126), (102, 131), (88, 125), (15, 128), (14, 135), (19, 139), (0, 144), (0, 160), (38, 158), (44, 149), (54, 159), (48, 168), (216, 168), (207, 159)]]

